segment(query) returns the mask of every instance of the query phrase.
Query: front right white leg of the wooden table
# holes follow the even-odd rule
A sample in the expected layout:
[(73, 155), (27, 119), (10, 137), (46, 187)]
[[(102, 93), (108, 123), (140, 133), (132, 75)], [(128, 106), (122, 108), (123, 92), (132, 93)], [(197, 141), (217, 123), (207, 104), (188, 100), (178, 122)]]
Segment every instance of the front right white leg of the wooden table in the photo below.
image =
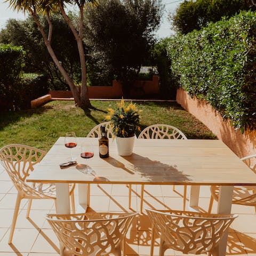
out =
[[(234, 186), (220, 186), (220, 195), (218, 202), (219, 214), (230, 214), (232, 206), (232, 195)], [(219, 244), (219, 256), (225, 256), (227, 250), (228, 230), (222, 237)]]

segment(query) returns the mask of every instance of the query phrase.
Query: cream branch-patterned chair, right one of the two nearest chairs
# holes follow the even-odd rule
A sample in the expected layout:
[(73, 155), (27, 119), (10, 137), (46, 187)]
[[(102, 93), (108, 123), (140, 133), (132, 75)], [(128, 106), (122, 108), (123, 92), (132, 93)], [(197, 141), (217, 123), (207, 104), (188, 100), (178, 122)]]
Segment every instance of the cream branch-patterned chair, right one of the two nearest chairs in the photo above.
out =
[(167, 249), (188, 254), (218, 255), (217, 245), (236, 214), (209, 214), (146, 209), (152, 224), (150, 256), (154, 251), (154, 233), (160, 236), (159, 256)]

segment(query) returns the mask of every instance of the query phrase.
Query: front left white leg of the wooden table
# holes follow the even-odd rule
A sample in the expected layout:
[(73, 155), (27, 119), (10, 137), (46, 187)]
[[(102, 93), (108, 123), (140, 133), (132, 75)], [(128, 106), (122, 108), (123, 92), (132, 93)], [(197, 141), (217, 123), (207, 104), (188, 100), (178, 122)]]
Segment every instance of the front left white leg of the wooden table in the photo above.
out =
[[(56, 212), (57, 214), (70, 214), (69, 184), (56, 183)], [(60, 256), (64, 256), (63, 246), (60, 243)]]

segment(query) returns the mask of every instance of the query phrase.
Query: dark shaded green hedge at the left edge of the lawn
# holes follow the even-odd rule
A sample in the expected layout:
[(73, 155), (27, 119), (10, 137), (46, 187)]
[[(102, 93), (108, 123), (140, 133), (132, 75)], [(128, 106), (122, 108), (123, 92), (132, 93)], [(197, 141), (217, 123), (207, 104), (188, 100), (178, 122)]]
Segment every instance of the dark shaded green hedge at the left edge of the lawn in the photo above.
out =
[(23, 74), (25, 54), (20, 46), (0, 45), (0, 110), (28, 109), (49, 91), (45, 75)]

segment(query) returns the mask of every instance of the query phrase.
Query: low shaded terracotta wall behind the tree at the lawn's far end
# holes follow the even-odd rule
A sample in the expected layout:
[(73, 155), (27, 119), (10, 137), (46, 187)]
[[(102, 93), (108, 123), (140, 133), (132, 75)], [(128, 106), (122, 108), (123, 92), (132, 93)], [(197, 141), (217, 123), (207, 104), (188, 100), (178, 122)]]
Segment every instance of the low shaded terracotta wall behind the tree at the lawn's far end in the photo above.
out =
[[(136, 81), (131, 89), (131, 97), (138, 97), (146, 94), (158, 94), (158, 76), (153, 76), (152, 81)], [(113, 81), (112, 86), (89, 86), (88, 93), (90, 99), (115, 99), (123, 95), (122, 85), (118, 81)], [(71, 91), (50, 91), (52, 98), (72, 98)]]

